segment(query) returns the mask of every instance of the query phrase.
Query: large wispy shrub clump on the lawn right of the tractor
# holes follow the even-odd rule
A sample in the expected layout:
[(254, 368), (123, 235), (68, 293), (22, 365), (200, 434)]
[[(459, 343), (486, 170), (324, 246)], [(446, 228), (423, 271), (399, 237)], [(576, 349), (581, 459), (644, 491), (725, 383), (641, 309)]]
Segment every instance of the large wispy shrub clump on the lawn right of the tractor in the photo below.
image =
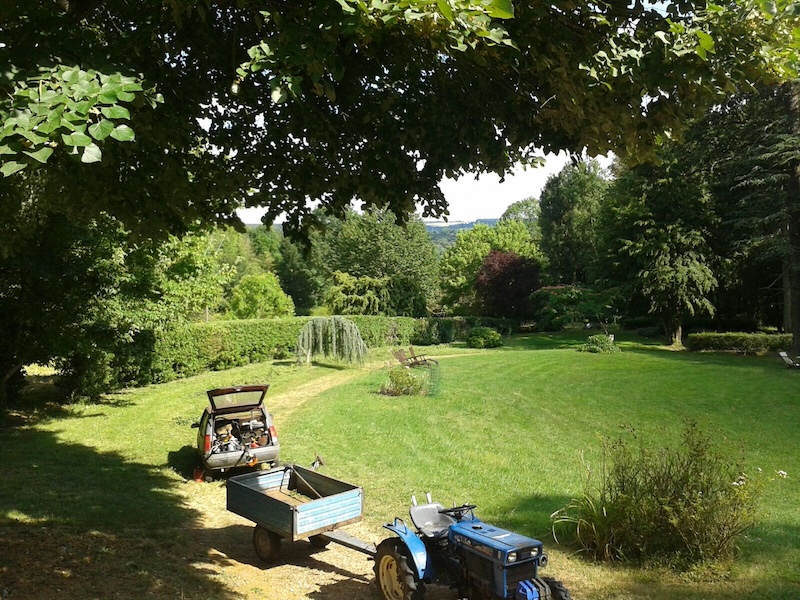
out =
[(596, 560), (680, 568), (724, 560), (755, 524), (757, 482), (694, 423), (674, 447), (605, 441), (596, 475), (553, 514), (554, 535)]

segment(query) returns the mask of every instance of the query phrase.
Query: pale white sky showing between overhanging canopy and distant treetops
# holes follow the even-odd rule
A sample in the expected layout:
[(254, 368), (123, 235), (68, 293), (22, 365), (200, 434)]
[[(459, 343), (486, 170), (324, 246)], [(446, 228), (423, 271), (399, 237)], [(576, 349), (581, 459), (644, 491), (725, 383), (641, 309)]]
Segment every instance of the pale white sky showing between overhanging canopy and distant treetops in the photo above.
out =
[[(441, 182), (442, 192), (450, 206), (450, 223), (470, 222), (478, 219), (499, 219), (509, 205), (531, 196), (539, 197), (547, 178), (556, 175), (569, 162), (566, 154), (548, 154), (545, 164), (538, 168), (516, 168), (505, 180), (494, 174), (482, 175), (479, 179), (467, 175), (459, 179), (445, 178)], [(606, 166), (609, 159), (601, 159)], [(245, 223), (260, 223), (263, 209), (248, 208), (238, 211)], [(278, 220), (280, 221), (280, 219)]]

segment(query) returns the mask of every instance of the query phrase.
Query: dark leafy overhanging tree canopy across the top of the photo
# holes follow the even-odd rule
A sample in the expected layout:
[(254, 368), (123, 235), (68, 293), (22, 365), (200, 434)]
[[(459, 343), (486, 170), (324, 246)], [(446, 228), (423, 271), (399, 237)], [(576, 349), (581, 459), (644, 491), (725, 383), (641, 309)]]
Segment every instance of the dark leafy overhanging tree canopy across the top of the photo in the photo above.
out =
[(150, 236), (244, 205), (302, 232), (309, 200), (441, 215), (445, 175), (646, 152), (777, 64), (792, 4), (770, 6), (764, 26), (692, 0), (11, 3), (2, 227), (108, 212)]

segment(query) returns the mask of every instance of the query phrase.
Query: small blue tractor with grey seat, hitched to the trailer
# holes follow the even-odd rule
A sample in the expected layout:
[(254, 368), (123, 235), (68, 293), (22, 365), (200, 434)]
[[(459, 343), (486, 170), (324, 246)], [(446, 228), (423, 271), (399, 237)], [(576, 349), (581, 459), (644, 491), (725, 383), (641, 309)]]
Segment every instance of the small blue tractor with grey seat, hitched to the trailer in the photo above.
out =
[(542, 543), (479, 520), (473, 504), (444, 508), (431, 501), (384, 525), (397, 534), (378, 544), (375, 579), (384, 600), (421, 600), (425, 584), (446, 585), (469, 600), (571, 600), (561, 582), (539, 577)]

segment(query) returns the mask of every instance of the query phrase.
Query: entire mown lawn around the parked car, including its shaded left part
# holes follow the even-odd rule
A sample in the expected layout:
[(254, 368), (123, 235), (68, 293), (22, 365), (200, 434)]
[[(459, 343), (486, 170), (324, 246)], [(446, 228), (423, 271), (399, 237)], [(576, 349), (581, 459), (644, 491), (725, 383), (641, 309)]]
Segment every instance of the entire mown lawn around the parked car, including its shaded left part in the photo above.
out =
[[(386, 377), (380, 362), (347, 370), (251, 365), (39, 415), (0, 430), (9, 458), (0, 533), (13, 538), (17, 527), (47, 525), (135, 531), (156, 548), (176, 543), (180, 536), (166, 535), (165, 523), (180, 529), (197, 518), (179, 490), (194, 464), (189, 424), (204, 390), (266, 381), (283, 458), (308, 464), (314, 453), (324, 456), (325, 472), (364, 488), (365, 517), (376, 527), (405, 516), (410, 494), (431, 491), (444, 504), (478, 504), (485, 520), (542, 538), (552, 551), (548, 571), (578, 600), (800, 597), (800, 373), (772, 356), (671, 352), (644, 340), (622, 339), (615, 355), (575, 352), (583, 337), (426, 349), (441, 364), (432, 398), (377, 394)], [(761, 522), (736, 564), (689, 574), (609, 567), (554, 543), (549, 516), (581, 491), (601, 436), (630, 426), (650, 443), (672, 442), (686, 418), (744, 449), (751, 474), (761, 469)], [(788, 477), (775, 477), (778, 470)], [(190, 578), (187, 589), (211, 594), (201, 574)]]

